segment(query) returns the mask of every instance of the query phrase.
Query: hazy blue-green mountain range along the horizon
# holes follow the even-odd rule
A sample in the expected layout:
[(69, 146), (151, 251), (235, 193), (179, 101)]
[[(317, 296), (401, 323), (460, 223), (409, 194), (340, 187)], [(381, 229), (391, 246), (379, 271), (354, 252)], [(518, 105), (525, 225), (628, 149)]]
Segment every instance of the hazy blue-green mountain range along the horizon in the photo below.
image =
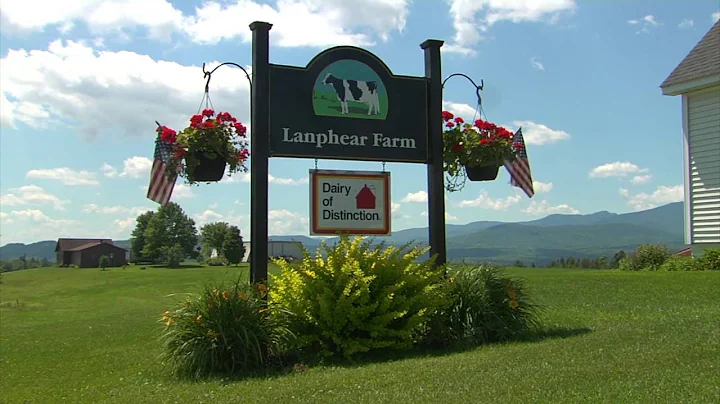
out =
[[(611, 258), (619, 250), (631, 251), (639, 244), (662, 243), (671, 250), (684, 248), (683, 203), (675, 202), (657, 208), (632, 212), (607, 211), (587, 215), (554, 214), (524, 222), (479, 221), (446, 226), (448, 259), (524, 263), (545, 265), (561, 257)], [(308, 236), (271, 236), (275, 241), (299, 241), (314, 251), (322, 239)], [(428, 229), (411, 228), (396, 231), (375, 242), (427, 245)], [(337, 238), (326, 238), (334, 244)], [(54, 260), (55, 240), (31, 244), (12, 243), (0, 247), (0, 259), (26, 254), (28, 257)], [(115, 240), (130, 248), (129, 240)]]

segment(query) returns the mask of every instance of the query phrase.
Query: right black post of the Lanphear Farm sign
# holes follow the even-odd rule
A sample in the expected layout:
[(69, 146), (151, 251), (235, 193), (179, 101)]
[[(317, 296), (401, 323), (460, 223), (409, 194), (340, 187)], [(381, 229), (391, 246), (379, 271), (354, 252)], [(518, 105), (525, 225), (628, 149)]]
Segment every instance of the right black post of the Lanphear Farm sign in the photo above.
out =
[(429, 39), (420, 47), (425, 51), (425, 77), (428, 79), (428, 139), (430, 158), (428, 175), (428, 241), (430, 256), (437, 254), (437, 265), (447, 261), (445, 243), (445, 171), (442, 141), (442, 69), (440, 48), (443, 41)]

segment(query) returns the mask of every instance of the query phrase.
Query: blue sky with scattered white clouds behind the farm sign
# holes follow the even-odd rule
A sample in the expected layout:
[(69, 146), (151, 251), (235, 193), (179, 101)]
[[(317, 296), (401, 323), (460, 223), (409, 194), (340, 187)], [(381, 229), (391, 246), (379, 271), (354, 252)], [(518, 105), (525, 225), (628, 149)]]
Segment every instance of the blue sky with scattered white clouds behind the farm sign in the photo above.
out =
[[(422, 75), (419, 44), (432, 38), (446, 41), (445, 76), (485, 81), (486, 118), (523, 127), (537, 193), (527, 198), (501, 170), (495, 182), (446, 194), (450, 223), (679, 201), (680, 99), (658, 86), (720, 17), (712, 0), (7, 0), (0, 7), (0, 244), (127, 238), (135, 216), (157, 207), (145, 197), (154, 121), (181, 129), (197, 112), (203, 62), (250, 65), (254, 20), (274, 24), (272, 63), (305, 65), (349, 44), (396, 74)], [(238, 69), (218, 70), (210, 95), (216, 109), (247, 123), (248, 86)], [(474, 90), (462, 79), (448, 82), (444, 101), (472, 118)], [(271, 159), (271, 234), (308, 234), (313, 166)], [(324, 160), (318, 167), (382, 168)], [(393, 229), (425, 226), (425, 166), (387, 169)], [(247, 236), (248, 179), (179, 185), (173, 201), (199, 224), (225, 220)]]

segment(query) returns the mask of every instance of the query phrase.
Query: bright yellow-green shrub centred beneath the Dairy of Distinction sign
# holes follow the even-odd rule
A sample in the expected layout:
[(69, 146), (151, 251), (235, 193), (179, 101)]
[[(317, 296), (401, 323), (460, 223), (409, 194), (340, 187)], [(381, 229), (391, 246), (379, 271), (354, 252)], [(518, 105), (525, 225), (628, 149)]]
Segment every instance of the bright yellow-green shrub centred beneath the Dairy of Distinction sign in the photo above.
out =
[(416, 342), (429, 313), (442, 304), (442, 266), (428, 249), (384, 243), (373, 248), (363, 237), (322, 244), (313, 257), (303, 251), (295, 263), (278, 259), (270, 297), (291, 313), (300, 353), (350, 359), (378, 349), (405, 349)]

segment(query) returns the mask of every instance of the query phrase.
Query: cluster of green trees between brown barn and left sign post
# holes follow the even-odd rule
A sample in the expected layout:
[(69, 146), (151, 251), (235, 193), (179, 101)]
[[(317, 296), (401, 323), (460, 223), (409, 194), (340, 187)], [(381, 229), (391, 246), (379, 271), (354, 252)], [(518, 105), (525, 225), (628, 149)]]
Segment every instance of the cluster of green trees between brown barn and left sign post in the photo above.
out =
[[(137, 217), (130, 250), (136, 263), (165, 263), (173, 268), (188, 258), (211, 265), (238, 264), (245, 255), (237, 226), (208, 223), (198, 234), (195, 221), (173, 202)], [(217, 259), (212, 259), (213, 251)]]

